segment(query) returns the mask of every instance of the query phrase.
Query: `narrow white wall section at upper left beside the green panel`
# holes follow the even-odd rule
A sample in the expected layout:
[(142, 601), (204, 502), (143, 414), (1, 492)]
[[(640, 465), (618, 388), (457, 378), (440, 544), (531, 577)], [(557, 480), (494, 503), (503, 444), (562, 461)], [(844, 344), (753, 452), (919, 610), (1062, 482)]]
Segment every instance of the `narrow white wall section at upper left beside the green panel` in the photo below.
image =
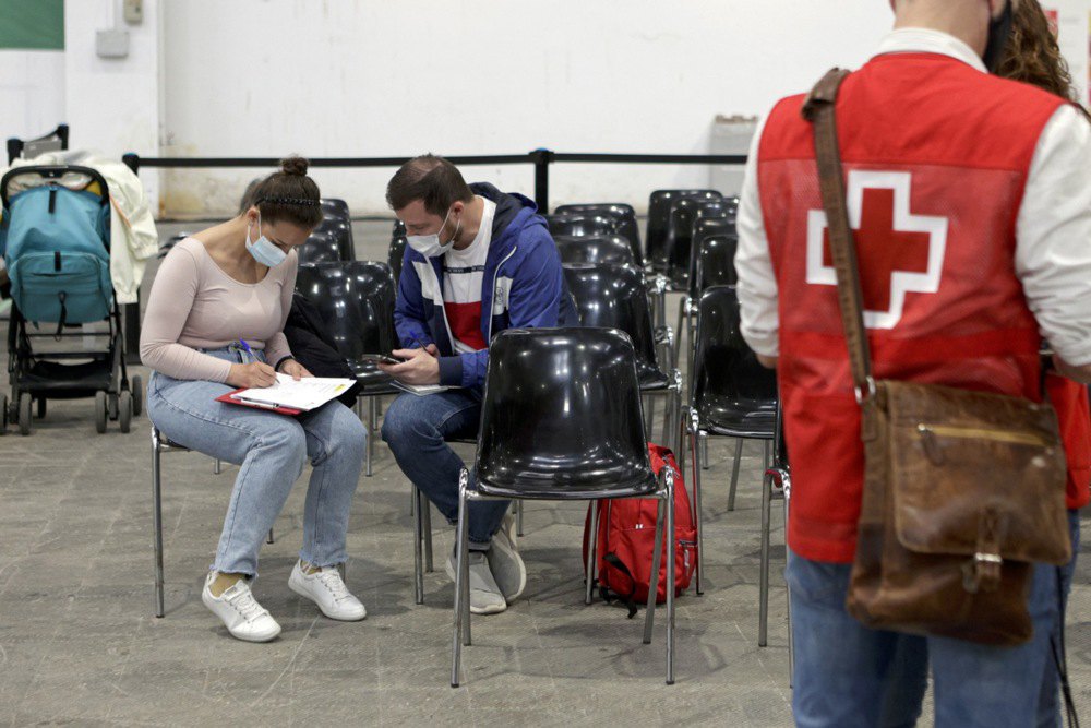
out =
[[(113, 26), (121, 0), (64, 3), (64, 108), (72, 148), (119, 158), (127, 152), (159, 153), (159, 0), (143, 2), (143, 22), (121, 24), (129, 32), (127, 58), (95, 52), (95, 33)], [(141, 179), (154, 200), (158, 172), (142, 171)]]

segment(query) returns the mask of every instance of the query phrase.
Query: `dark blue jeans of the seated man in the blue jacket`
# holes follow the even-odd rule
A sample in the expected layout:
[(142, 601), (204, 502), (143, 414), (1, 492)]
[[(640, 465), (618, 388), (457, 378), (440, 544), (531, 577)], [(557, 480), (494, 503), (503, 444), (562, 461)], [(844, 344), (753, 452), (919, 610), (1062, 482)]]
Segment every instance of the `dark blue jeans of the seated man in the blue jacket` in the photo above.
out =
[[(452, 525), (458, 521), (458, 476), (465, 464), (446, 441), (477, 439), (480, 420), (481, 393), (477, 390), (448, 390), (424, 396), (401, 394), (383, 416), (383, 441), (391, 446), (401, 472)], [(509, 503), (468, 504), (470, 548), (489, 548)]]

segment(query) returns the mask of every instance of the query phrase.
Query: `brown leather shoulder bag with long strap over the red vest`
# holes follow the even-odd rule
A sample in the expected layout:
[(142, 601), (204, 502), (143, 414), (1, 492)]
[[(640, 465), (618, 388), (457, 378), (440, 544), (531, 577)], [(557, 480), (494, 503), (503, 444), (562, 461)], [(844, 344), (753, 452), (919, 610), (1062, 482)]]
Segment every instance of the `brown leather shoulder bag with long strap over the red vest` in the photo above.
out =
[(803, 106), (862, 416), (847, 608), (875, 629), (1019, 644), (1033, 562), (1071, 557), (1057, 417), (1046, 402), (872, 377), (834, 114), (847, 75), (827, 73)]

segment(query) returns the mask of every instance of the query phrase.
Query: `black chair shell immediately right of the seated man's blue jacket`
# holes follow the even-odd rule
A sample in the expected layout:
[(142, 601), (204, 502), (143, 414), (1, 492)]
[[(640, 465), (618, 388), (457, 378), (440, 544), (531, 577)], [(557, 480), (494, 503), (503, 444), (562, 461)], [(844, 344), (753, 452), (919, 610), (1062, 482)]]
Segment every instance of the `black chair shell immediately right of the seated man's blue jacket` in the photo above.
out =
[(661, 379), (644, 272), (634, 265), (568, 264), (564, 278), (576, 299), (579, 322), (628, 334), (640, 381)]

